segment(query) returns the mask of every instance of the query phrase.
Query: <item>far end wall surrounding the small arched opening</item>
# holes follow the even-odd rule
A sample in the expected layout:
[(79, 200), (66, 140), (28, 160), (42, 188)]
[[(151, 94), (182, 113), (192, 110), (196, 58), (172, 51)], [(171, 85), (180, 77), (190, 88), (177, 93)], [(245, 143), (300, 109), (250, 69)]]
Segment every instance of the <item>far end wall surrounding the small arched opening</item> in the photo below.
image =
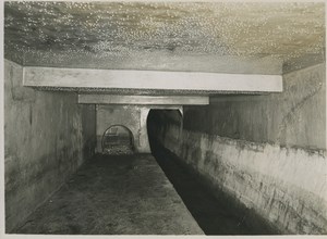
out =
[(146, 127), (148, 111), (149, 108), (138, 105), (97, 105), (97, 152), (102, 152), (102, 136), (112, 125), (123, 125), (132, 131), (136, 152), (150, 152)]

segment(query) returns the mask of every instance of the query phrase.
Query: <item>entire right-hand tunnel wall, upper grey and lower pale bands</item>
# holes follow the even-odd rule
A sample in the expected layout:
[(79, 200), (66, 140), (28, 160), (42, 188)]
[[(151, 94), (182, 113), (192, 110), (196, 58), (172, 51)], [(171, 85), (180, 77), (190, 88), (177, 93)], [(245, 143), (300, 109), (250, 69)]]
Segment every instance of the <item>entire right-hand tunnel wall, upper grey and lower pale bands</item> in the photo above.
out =
[(325, 66), (283, 76), (280, 95), (185, 106), (158, 140), (206, 181), (284, 234), (326, 234)]

